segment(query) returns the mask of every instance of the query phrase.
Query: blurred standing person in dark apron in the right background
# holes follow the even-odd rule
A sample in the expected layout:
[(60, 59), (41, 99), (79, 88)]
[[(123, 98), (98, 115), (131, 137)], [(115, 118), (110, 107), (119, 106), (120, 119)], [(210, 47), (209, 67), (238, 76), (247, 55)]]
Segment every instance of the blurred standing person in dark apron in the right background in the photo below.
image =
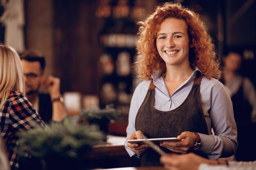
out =
[[(223, 57), (223, 77), (220, 80), (231, 97), (238, 130), (237, 161), (256, 160), (255, 141), (248, 138), (256, 130), (256, 93), (253, 83), (241, 74), (243, 50), (227, 48)], [(248, 152), (249, 151), (249, 152)]]

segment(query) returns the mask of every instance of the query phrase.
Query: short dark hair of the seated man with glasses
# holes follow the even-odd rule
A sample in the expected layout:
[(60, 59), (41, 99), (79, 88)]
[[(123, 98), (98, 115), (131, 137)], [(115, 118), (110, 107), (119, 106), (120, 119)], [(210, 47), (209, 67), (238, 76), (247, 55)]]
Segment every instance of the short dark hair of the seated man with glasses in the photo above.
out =
[(40, 51), (25, 51), (20, 54), (20, 60), (27, 60), (29, 62), (39, 62), (42, 71), (45, 69), (45, 57)]

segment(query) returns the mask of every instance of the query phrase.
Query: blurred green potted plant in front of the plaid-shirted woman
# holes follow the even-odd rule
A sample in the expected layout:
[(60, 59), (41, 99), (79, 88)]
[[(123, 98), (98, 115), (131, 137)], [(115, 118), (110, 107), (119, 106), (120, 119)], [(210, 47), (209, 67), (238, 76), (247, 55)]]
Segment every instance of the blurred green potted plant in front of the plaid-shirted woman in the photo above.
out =
[(78, 125), (64, 119), (48, 129), (35, 128), (19, 132), (19, 153), (29, 153), (43, 162), (45, 170), (86, 169), (81, 161), (92, 146), (105, 135), (90, 126)]

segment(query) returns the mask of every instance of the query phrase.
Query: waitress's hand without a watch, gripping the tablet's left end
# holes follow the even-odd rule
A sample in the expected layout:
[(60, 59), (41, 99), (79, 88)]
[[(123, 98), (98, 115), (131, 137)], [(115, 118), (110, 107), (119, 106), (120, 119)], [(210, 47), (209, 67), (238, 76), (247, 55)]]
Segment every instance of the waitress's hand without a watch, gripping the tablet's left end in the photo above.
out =
[[(128, 140), (132, 140), (132, 139), (143, 139), (143, 133), (140, 130), (132, 133), (132, 135), (128, 137)], [(127, 146), (130, 147), (130, 150), (134, 153), (143, 153), (148, 149), (148, 145), (146, 144), (139, 145), (139, 144), (131, 144), (127, 142)]]

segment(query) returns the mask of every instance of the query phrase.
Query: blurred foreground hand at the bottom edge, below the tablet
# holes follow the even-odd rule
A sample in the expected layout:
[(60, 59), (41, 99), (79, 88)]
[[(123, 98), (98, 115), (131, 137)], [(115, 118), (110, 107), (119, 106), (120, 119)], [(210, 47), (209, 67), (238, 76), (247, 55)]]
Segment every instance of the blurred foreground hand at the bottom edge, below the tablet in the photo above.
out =
[(164, 155), (160, 158), (160, 162), (167, 170), (198, 170), (201, 163), (216, 164), (194, 153)]

